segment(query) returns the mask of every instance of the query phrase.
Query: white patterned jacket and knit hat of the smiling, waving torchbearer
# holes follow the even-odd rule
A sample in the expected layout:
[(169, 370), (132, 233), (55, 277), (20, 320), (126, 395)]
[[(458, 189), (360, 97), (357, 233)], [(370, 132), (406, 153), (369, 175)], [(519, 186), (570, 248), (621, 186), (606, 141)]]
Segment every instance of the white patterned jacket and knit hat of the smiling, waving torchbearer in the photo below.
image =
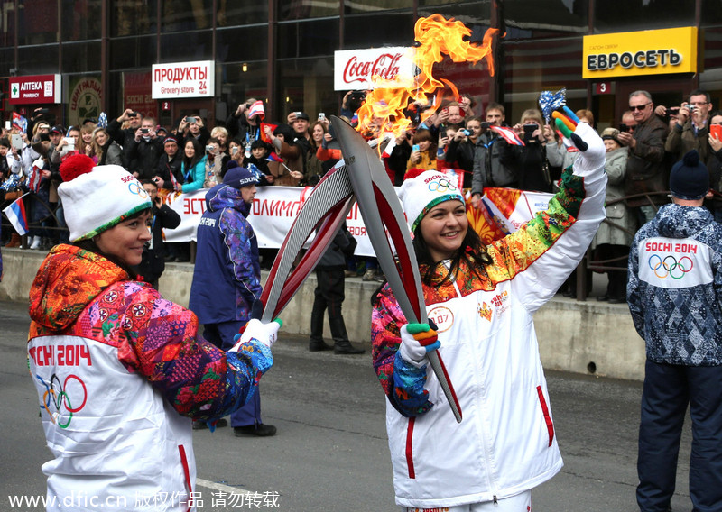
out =
[[(546, 211), (488, 245), (493, 263), (478, 263), (478, 275), (462, 260), (458, 272), (441, 282), (448, 272), (441, 261), (434, 272), (440, 285), (423, 285), (461, 423), (430, 366), (420, 368), (402, 357), (400, 328), (408, 322), (388, 285), (377, 297), (373, 360), (387, 398), (393, 485), (401, 507), (477, 510), (498, 502), (507, 505), (494, 510), (526, 510), (513, 505), (514, 497), (531, 495), (560, 471), (532, 316), (577, 267), (605, 217), (604, 145), (587, 124), (579, 123), (576, 133), (589, 149), (573, 173), (563, 174)], [(431, 173), (416, 179), (426, 174)], [(402, 191), (410, 223), (415, 218), (410, 209), (423, 207), (411, 205), (427, 205), (421, 220), (444, 200), (421, 200), (431, 185), (438, 184), (431, 182), (421, 194), (412, 187), (406, 196)], [(426, 270), (421, 265), (421, 275)]]

